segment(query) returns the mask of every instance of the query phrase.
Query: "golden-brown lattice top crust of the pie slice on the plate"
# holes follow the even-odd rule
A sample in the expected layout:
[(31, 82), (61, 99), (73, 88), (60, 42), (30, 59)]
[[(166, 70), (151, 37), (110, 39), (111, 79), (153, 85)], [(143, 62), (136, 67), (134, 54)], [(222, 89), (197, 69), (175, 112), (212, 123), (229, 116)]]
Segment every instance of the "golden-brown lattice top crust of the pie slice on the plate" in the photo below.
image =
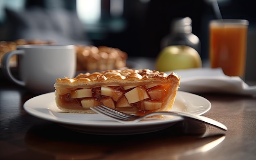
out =
[(57, 79), (54, 87), (68, 88), (73, 90), (75, 88), (92, 88), (99, 86), (138, 86), (153, 84), (153, 83), (174, 83), (177, 86), (180, 84), (180, 78), (175, 73), (166, 75), (164, 72), (155, 70), (106, 70), (102, 72), (93, 72), (79, 74), (75, 78)]

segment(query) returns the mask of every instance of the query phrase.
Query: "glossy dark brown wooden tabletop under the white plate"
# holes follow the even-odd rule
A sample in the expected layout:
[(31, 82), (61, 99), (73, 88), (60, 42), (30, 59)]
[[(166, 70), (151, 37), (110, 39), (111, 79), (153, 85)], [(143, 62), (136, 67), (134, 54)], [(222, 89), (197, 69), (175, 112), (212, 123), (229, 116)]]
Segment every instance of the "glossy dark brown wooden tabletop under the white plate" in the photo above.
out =
[(104, 136), (74, 132), (31, 116), (25, 112), (23, 105), (37, 95), (6, 79), (1, 81), (1, 160), (256, 158), (256, 97), (253, 96), (200, 94), (212, 105), (204, 116), (226, 125), (227, 132), (180, 121), (167, 129), (146, 134)]

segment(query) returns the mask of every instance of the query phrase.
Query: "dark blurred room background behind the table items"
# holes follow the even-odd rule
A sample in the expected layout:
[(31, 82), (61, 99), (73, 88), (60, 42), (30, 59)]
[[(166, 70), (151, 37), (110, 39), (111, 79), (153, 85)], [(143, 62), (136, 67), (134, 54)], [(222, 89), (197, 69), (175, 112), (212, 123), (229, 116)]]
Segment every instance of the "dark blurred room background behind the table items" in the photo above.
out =
[[(208, 58), (213, 0), (0, 0), (0, 40), (53, 40), (119, 48), (128, 56), (156, 57), (174, 18), (190, 17)], [(252, 0), (218, 0), (222, 18), (249, 20), (248, 50), (255, 55)], [(253, 57), (255, 58), (255, 56)], [(256, 59), (255, 59), (256, 60)]]

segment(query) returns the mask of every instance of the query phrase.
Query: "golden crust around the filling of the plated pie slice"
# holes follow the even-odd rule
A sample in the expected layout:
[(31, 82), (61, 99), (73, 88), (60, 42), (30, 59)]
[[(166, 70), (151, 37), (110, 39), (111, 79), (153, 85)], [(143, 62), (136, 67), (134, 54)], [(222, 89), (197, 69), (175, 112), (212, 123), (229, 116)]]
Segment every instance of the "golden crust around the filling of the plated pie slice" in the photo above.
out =
[(63, 79), (56, 79), (55, 95), (56, 105), (59, 109), (65, 112), (72, 113), (94, 113), (92, 110), (70, 110), (62, 107), (59, 96), (63, 94), (69, 94), (72, 90), (77, 88), (97, 88), (107, 86), (131, 86), (136, 87), (140, 85), (165, 85), (170, 84), (170, 92), (168, 98), (164, 102), (164, 107), (161, 111), (171, 110), (175, 101), (177, 89), (180, 85), (180, 77), (174, 72), (170, 75), (166, 75), (164, 72), (148, 69), (125, 69), (125, 70), (106, 70), (93, 73), (81, 73), (75, 78), (65, 77)]

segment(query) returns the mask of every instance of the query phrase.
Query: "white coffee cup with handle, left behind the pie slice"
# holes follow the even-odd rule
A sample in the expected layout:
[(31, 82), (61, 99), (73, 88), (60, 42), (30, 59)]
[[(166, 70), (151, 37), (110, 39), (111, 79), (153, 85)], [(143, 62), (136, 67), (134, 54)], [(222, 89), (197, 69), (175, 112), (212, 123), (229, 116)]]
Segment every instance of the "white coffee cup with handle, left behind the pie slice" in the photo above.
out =
[[(20, 80), (12, 75), (9, 67), (13, 55), (18, 55)], [(73, 45), (20, 45), (17, 50), (4, 54), (2, 71), (7, 78), (32, 93), (52, 92), (56, 79), (75, 76), (75, 49)]]

